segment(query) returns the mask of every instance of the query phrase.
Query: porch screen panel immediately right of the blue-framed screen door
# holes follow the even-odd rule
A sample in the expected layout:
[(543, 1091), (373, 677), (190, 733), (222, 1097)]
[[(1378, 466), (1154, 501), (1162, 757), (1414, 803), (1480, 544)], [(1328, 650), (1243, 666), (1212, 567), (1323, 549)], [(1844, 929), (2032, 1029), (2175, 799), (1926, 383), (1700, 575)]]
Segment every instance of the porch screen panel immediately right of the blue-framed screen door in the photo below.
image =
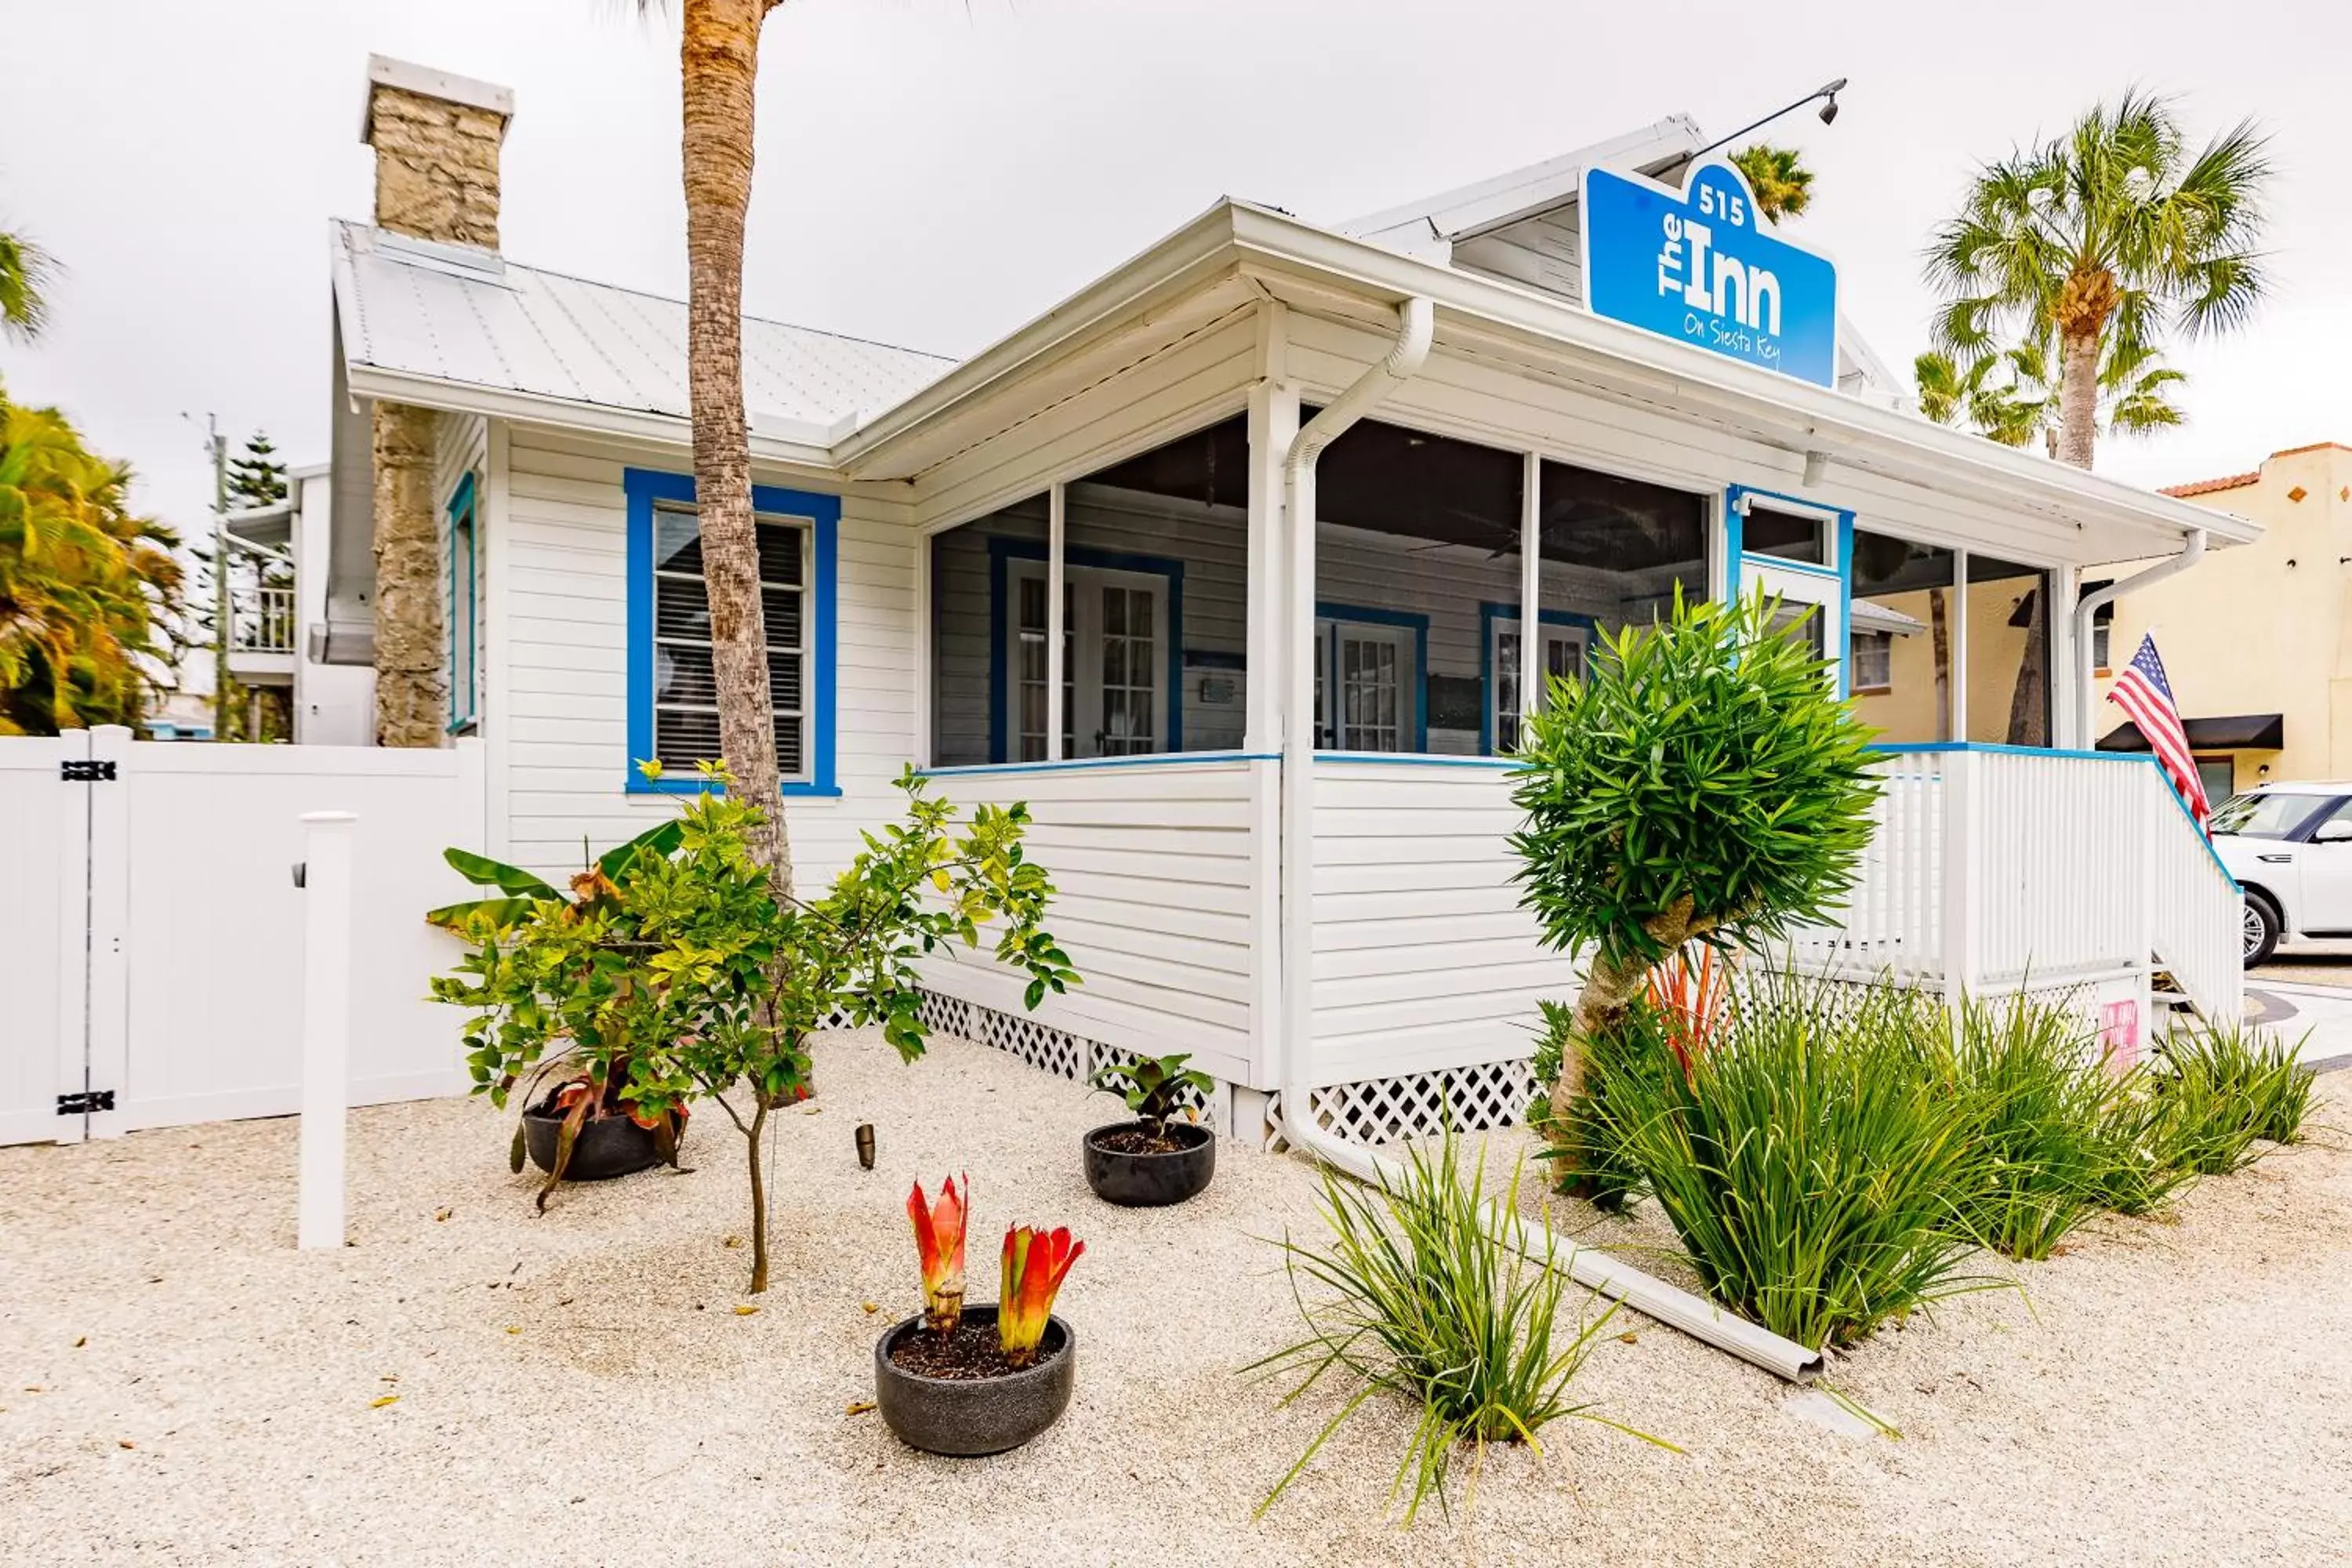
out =
[(1957, 581), (1952, 552), (1853, 531), (1849, 691), (1853, 715), (1889, 745), (1952, 741)]

